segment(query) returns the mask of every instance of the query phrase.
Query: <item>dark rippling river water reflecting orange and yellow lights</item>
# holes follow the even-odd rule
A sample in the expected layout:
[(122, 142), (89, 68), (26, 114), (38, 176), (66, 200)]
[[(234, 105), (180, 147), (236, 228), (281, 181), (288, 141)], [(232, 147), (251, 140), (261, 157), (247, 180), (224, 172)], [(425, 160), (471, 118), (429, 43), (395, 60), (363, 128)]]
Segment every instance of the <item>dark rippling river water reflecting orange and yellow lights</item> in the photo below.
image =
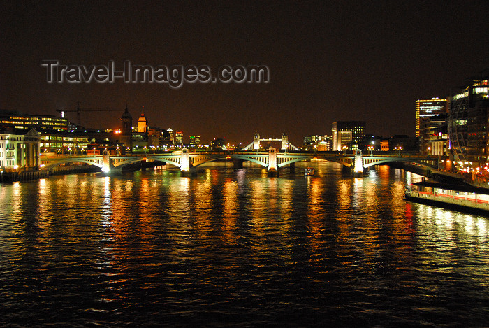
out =
[(0, 185), (0, 325), (488, 325), (489, 219), (411, 173), (202, 169)]

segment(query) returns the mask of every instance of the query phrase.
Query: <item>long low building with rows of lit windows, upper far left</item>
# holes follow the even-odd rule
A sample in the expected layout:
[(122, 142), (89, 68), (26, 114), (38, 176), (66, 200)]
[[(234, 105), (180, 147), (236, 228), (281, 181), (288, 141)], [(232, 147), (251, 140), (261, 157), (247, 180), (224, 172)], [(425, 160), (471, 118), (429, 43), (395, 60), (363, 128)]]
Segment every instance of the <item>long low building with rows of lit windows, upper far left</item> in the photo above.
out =
[(63, 130), (68, 129), (69, 122), (64, 117), (52, 115), (29, 115), (14, 110), (0, 110), (0, 125), (13, 129)]

